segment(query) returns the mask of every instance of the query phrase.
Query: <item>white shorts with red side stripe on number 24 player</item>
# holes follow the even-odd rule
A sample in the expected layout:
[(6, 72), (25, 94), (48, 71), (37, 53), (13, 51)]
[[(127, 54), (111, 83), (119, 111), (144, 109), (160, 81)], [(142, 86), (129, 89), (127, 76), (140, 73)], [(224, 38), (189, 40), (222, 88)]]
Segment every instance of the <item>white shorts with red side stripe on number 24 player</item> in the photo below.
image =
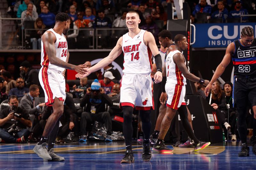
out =
[(63, 102), (66, 99), (66, 83), (61, 71), (43, 66), (38, 74), (40, 84), (44, 89), (45, 105), (52, 106), (55, 97)]

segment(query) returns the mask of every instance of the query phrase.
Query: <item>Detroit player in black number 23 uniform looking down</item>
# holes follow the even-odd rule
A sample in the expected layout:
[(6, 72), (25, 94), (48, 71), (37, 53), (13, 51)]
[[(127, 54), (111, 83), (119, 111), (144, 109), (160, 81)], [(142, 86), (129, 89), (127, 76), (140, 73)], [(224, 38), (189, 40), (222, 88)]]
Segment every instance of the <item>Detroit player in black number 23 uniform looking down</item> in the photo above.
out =
[(241, 38), (230, 43), (226, 49), (226, 54), (217, 67), (211, 82), (206, 86), (204, 93), (206, 96), (225, 68), (228, 66), (231, 58), (234, 70), (234, 107), (237, 109), (237, 127), (242, 142), (242, 149), (238, 156), (249, 156), (249, 147), (246, 143), (246, 106), (249, 102), (254, 112), (253, 118), (253, 136), (250, 139), (252, 152), (256, 155), (256, 39), (251, 27), (244, 27), (241, 32)]

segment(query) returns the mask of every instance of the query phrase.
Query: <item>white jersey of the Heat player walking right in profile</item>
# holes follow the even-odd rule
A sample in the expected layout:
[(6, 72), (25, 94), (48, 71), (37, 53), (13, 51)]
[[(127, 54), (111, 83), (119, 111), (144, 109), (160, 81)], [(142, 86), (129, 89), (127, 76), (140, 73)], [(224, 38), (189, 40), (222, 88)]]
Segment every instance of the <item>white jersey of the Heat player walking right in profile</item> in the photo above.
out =
[[(180, 53), (179, 50), (172, 50), (167, 56), (165, 60), (166, 66), (166, 77), (169, 83), (173, 83), (176, 85), (186, 85), (186, 78), (183, 76), (178, 66), (173, 62), (173, 55)], [(186, 61), (185, 61), (186, 64)]]

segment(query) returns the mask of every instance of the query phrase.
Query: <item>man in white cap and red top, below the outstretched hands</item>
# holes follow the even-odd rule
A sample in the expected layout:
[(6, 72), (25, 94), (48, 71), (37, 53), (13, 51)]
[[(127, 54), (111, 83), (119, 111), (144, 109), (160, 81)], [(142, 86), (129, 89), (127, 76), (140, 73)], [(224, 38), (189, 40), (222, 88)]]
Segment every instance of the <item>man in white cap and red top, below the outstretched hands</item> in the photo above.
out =
[(104, 73), (104, 79), (100, 80), (100, 86), (101, 88), (103, 88), (105, 94), (108, 94), (110, 92), (112, 92), (113, 86), (115, 85), (115, 83), (111, 80), (113, 80), (115, 77), (113, 76), (113, 74), (110, 71), (106, 71)]

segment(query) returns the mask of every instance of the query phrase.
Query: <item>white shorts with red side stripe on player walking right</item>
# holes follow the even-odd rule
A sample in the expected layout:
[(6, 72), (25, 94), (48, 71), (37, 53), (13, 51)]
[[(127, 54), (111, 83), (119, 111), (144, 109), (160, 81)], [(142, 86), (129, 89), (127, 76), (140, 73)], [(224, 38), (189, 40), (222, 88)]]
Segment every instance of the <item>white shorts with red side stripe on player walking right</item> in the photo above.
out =
[(185, 95), (186, 95), (186, 86), (177, 85), (174, 83), (167, 82), (165, 84), (165, 92), (168, 95), (167, 107), (178, 110), (181, 105), (186, 105)]

